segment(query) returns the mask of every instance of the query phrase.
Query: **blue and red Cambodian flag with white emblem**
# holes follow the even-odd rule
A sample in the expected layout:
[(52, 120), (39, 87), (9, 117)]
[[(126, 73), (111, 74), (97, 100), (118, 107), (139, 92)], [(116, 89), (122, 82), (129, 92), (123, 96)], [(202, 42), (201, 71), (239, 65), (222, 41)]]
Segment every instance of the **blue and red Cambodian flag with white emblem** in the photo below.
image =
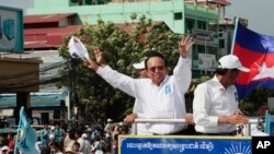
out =
[(236, 28), (233, 55), (250, 69), (236, 81), (239, 99), (258, 86), (274, 90), (274, 36), (255, 33), (240, 24)]

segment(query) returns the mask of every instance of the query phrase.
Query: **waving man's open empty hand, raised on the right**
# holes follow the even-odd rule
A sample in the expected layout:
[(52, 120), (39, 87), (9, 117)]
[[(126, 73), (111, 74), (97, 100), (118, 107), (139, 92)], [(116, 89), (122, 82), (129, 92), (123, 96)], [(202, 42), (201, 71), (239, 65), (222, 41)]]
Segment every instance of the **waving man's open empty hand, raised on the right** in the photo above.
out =
[(193, 44), (194, 42), (192, 40), (192, 37), (190, 37), (190, 35), (183, 36), (181, 42), (179, 42), (179, 51), (183, 58), (186, 58), (189, 56)]

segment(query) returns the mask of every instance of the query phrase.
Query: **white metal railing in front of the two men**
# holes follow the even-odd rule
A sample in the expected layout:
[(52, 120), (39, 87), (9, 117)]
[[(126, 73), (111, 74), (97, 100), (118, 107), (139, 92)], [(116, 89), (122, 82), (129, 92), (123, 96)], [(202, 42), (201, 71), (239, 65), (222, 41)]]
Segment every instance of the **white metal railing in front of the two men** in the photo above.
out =
[[(185, 119), (135, 119), (135, 122), (133, 123), (133, 134), (137, 134), (137, 123), (182, 123), (185, 122)], [(246, 137), (251, 137), (251, 125), (258, 123), (258, 119), (250, 118), (247, 125), (237, 126), (244, 127), (244, 132), (242, 132)], [(238, 131), (237, 131), (238, 132)], [(237, 135), (241, 135), (240, 132), (237, 133)]]

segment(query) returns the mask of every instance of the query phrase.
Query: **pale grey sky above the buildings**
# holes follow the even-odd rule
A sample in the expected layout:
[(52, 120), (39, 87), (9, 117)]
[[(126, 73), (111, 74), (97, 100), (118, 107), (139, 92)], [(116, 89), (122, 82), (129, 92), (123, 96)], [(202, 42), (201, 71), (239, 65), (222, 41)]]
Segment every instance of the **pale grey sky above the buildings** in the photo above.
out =
[[(31, 8), (34, 0), (0, 0), (0, 5), (14, 8)], [(239, 16), (249, 20), (249, 28), (274, 36), (274, 0), (228, 0), (231, 4), (226, 8), (226, 16)]]

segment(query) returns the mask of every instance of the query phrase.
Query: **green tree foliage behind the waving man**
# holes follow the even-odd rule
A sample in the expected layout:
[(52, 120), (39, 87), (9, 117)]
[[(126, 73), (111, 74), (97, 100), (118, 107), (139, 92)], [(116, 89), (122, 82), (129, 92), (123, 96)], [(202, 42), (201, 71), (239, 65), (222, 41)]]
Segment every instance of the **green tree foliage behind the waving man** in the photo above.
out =
[(179, 59), (178, 42), (181, 36), (172, 33), (164, 23), (152, 22), (145, 16), (139, 17), (134, 26), (118, 26), (112, 22), (98, 21), (95, 26), (88, 26), (66, 36), (58, 51), (68, 64), (59, 72), (65, 80), (60, 81), (58, 86), (73, 87), (81, 114), (90, 122), (106, 118), (123, 120), (125, 115), (132, 111), (134, 98), (111, 87), (94, 71), (84, 67), (80, 59), (70, 59), (67, 46), (72, 35), (81, 39), (92, 59), (93, 49), (100, 47), (109, 66), (133, 78), (138, 78), (133, 63), (139, 62), (150, 50), (162, 52), (171, 69)]

